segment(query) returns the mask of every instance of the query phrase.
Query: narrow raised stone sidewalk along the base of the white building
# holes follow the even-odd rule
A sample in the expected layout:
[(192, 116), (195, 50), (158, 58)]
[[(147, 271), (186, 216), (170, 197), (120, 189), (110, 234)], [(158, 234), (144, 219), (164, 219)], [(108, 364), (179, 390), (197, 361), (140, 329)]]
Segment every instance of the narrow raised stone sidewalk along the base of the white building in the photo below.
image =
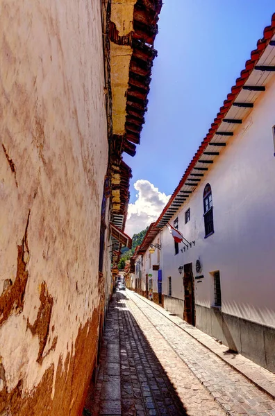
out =
[[(143, 302), (148, 303), (152, 308), (156, 309), (156, 311), (165, 316), (165, 318), (176, 324), (178, 328), (181, 328), (183, 331), (188, 333), (201, 345), (203, 345), (211, 352), (213, 352), (215, 355), (217, 355), (219, 358), (221, 358), (222, 361), (226, 362), (228, 365), (230, 365), (230, 367), (242, 374), (242, 376), (244, 376), (247, 380), (251, 381), (251, 383), (256, 385), (256, 387), (258, 387), (260, 390), (272, 397), (272, 399), (275, 399), (275, 374), (272, 374), (268, 370), (265, 370), (265, 368), (260, 367), (260, 365), (253, 363), (241, 354), (228, 354), (228, 347), (226, 347), (225, 345), (218, 345), (217, 341), (215, 341), (211, 336), (208, 336), (206, 333), (203, 333), (200, 329), (192, 327), (192, 325), (181, 320), (181, 318), (179, 318), (178, 316), (176, 316), (176, 318), (173, 319), (172, 316), (169, 315), (169, 313), (165, 311), (165, 309), (163, 309), (161, 306), (154, 304), (153, 302), (147, 300), (145, 297), (139, 295), (138, 293), (135, 293), (133, 291), (129, 292), (138, 296), (140, 300), (143, 300)], [(178, 322), (176, 322), (176, 319), (181, 320), (182, 324), (178, 324)], [(185, 327), (182, 326), (183, 324)], [(197, 332), (197, 335), (194, 332)], [(224, 356), (225, 353), (226, 356)], [(232, 363), (230, 360), (234, 360), (236, 363)], [(227, 412), (226, 414), (231, 415), (231, 413), (229, 412)]]

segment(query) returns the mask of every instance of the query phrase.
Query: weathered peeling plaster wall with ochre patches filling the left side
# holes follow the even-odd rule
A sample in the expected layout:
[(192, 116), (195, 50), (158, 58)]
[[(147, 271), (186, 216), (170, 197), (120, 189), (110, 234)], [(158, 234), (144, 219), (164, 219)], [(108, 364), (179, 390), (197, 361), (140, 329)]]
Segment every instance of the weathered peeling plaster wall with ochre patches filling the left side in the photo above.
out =
[(0, 2), (0, 414), (80, 415), (108, 161), (99, 0)]

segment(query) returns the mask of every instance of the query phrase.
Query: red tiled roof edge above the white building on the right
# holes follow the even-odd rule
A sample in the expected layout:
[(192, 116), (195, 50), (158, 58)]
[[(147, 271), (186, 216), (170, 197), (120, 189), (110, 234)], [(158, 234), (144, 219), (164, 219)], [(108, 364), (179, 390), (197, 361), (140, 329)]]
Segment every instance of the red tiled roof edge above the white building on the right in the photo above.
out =
[(215, 118), (214, 122), (211, 124), (208, 134), (201, 142), (201, 146), (199, 146), (197, 153), (194, 155), (183, 177), (181, 178), (181, 182), (179, 182), (178, 187), (176, 187), (176, 189), (174, 190), (174, 193), (172, 194), (171, 198), (167, 202), (167, 205), (165, 205), (165, 208), (163, 209), (162, 213), (156, 220), (155, 225), (157, 225), (160, 222), (161, 218), (163, 218), (163, 215), (165, 214), (169, 206), (172, 204), (174, 198), (178, 194), (178, 191), (180, 191), (181, 187), (183, 187), (183, 184), (187, 180), (188, 175), (194, 168), (195, 164), (197, 164), (199, 157), (201, 157), (201, 155), (203, 154), (203, 151), (206, 149), (206, 147), (208, 146), (208, 143), (215, 135), (215, 132), (217, 132), (217, 129), (219, 128), (219, 125), (222, 123), (222, 120), (224, 119), (226, 113), (230, 110), (233, 102), (235, 101), (235, 98), (238, 96), (238, 94), (240, 94), (242, 86), (244, 85), (244, 83), (246, 83), (247, 78), (249, 78), (258, 60), (265, 52), (265, 49), (268, 46), (270, 40), (272, 40), (274, 33), (275, 33), (275, 13), (272, 15), (272, 24), (270, 26), (267, 26), (264, 29), (263, 38), (258, 40), (257, 42), (257, 49), (251, 52), (251, 59), (247, 60), (245, 64), (245, 69), (241, 71), (240, 77), (237, 78), (236, 80), (236, 84), (233, 85), (233, 87), (231, 88), (231, 93), (228, 94), (226, 100), (224, 101), (224, 105), (219, 109), (219, 113), (217, 114), (217, 117)]

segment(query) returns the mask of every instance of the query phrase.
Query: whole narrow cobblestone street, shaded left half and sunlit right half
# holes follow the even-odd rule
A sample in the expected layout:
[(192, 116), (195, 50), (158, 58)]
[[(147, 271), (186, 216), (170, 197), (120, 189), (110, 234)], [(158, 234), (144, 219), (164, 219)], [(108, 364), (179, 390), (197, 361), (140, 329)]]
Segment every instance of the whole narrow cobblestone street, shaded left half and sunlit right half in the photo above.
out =
[(83, 415), (275, 416), (275, 402), (133, 292), (110, 303)]

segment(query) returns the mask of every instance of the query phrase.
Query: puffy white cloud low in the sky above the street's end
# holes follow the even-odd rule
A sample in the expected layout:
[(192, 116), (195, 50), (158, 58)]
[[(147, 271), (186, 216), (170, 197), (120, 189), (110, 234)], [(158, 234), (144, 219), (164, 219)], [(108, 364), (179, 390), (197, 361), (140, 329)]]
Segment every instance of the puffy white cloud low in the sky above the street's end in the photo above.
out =
[(170, 195), (158, 191), (148, 180), (137, 180), (134, 184), (138, 191), (137, 200), (128, 205), (128, 216), (125, 232), (129, 236), (142, 231), (158, 219), (160, 212), (167, 204)]

